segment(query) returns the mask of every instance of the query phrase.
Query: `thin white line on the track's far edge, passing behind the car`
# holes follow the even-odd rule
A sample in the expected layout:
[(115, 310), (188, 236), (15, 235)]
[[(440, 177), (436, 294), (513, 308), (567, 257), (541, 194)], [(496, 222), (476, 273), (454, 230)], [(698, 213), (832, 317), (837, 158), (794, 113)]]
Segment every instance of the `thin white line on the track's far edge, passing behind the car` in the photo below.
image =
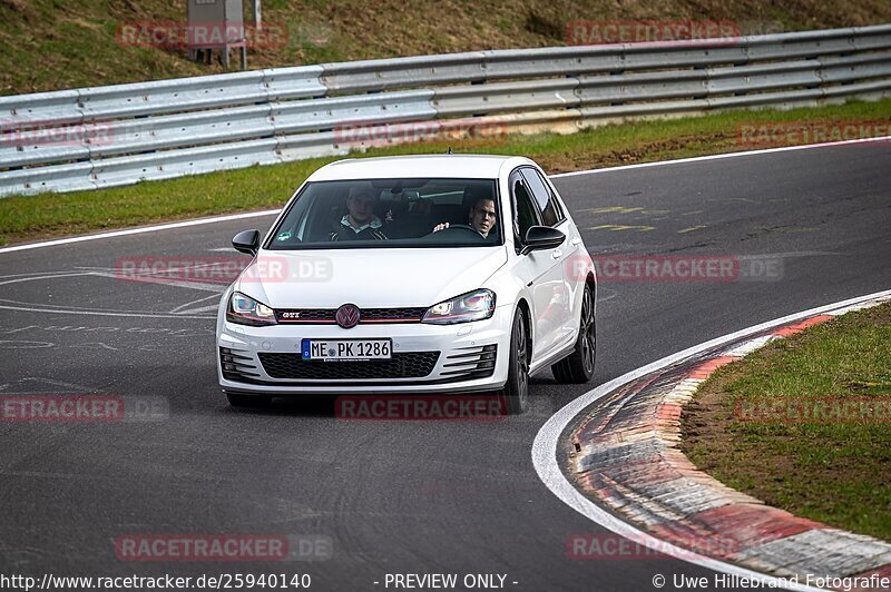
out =
[[(623, 165), (620, 167), (607, 167), (607, 168), (597, 168), (590, 170), (575, 170), (572, 172), (559, 172), (557, 175), (551, 175), (551, 178), (557, 177), (572, 177), (576, 175), (593, 175), (596, 172), (610, 172), (614, 170), (629, 170), (635, 168), (645, 168), (645, 167), (660, 167), (665, 165), (683, 165), (686, 162), (698, 162), (701, 160), (716, 160), (719, 158), (734, 158), (737, 156), (754, 156), (754, 155), (766, 155), (773, 152), (783, 152), (787, 150), (804, 150), (809, 148), (825, 148), (832, 146), (841, 146), (845, 144), (861, 144), (861, 142), (871, 142), (871, 141), (882, 141), (882, 140), (891, 140), (891, 136), (884, 136), (881, 138), (863, 138), (858, 140), (844, 140), (844, 141), (831, 141), (824, 144), (806, 144), (803, 146), (784, 146), (781, 148), (766, 148), (763, 150), (747, 150), (743, 152), (726, 152), (721, 155), (709, 155), (709, 156), (696, 156), (693, 158), (681, 158), (677, 160), (657, 160), (655, 162), (639, 162), (637, 165)], [(265, 211), (249, 211), (246, 214), (233, 214), (231, 216), (217, 216), (214, 218), (202, 218), (198, 220), (186, 220), (180, 223), (170, 223), (170, 224), (163, 224), (158, 226), (145, 226), (143, 228), (129, 228), (126, 230), (114, 230), (111, 233), (100, 233), (96, 235), (87, 235), (87, 236), (76, 236), (71, 238), (59, 238), (57, 240), (47, 240), (43, 243), (29, 243), (27, 245), (17, 245), (14, 247), (3, 247), (0, 248), (0, 254), (3, 253), (14, 253), (17, 250), (30, 250), (41, 247), (55, 247), (58, 245), (70, 245), (71, 243), (82, 243), (85, 240), (99, 240), (102, 238), (114, 238), (116, 236), (127, 236), (127, 235), (138, 235), (143, 233), (154, 233), (156, 230), (169, 230), (172, 228), (183, 228), (185, 226), (197, 226), (202, 224), (216, 224), (221, 221), (229, 221), (229, 220), (241, 220), (245, 218), (255, 218), (261, 216), (273, 216), (278, 214), (280, 210), (277, 209), (270, 209)]]

